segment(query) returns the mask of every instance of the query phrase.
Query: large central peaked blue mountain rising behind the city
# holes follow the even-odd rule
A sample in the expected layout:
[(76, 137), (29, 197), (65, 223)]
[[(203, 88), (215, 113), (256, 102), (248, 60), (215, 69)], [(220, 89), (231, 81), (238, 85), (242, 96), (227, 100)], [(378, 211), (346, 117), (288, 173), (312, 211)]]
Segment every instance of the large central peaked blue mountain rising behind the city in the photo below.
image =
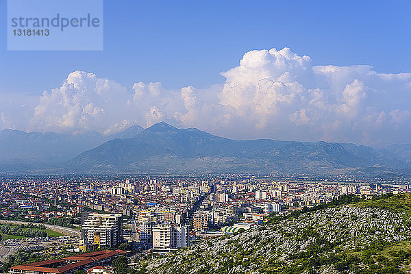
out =
[(404, 157), (393, 149), (334, 142), (230, 140), (158, 123), (133, 138), (110, 140), (81, 153), (64, 168), (79, 173), (330, 174), (407, 169)]

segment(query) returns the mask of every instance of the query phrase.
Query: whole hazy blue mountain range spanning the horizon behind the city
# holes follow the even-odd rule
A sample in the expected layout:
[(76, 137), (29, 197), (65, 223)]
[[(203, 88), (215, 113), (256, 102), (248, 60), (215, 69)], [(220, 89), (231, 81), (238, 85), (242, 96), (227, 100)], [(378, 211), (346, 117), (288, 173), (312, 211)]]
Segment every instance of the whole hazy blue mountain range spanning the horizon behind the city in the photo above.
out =
[(0, 132), (0, 171), (152, 174), (409, 174), (411, 145), (232, 140), (164, 122), (116, 135)]

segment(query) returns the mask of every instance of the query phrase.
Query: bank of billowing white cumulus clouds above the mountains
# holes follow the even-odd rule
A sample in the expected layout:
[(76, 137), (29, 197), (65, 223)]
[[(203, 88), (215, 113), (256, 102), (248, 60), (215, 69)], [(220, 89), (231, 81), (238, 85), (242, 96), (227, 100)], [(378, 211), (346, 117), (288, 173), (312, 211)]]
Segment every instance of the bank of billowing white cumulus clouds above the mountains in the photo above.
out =
[[(249, 51), (221, 73), (223, 85), (166, 90), (160, 83), (125, 87), (94, 73), (74, 71), (23, 111), (22, 125), (0, 101), (0, 127), (55, 132), (119, 132), (166, 121), (229, 138), (410, 142), (411, 73), (371, 66), (312, 66), (290, 49)], [(4, 105), (3, 105), (4, 104)], [(20, 115), (21, 116), (21, 115)]]

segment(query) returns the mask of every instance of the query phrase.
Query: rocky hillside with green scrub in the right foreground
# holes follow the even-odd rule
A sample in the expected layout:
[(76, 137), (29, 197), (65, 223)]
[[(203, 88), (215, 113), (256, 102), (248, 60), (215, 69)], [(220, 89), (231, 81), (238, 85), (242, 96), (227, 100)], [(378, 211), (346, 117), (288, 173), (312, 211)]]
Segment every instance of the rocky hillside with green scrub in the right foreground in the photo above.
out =
[(271, 217), (266, 225), (205, 240), (140, 273), (411, 273), (411, 195), (349, 195)]

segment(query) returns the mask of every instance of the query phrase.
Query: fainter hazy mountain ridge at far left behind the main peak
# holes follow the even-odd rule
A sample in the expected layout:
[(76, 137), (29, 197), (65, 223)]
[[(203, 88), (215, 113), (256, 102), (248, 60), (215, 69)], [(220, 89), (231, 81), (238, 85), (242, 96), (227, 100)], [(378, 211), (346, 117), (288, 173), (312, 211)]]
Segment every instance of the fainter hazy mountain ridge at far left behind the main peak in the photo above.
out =
[(92, 149), (112, 138), (130, 138), (142, 130), (133, 126), (112, 136), (98, 132), (56, 134), (3, 129), (0, 131), (0, 171), (25, 171), (55, 168), (82, 151)]

